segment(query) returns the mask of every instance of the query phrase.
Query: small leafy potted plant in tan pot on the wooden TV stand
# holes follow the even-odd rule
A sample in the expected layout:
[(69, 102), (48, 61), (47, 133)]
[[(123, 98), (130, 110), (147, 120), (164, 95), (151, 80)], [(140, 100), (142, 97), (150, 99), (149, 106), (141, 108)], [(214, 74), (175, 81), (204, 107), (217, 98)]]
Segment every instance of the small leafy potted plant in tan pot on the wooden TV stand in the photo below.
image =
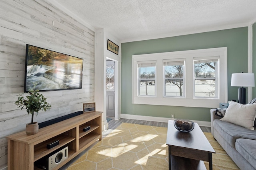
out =
[(18, 108), (23, 109), (25, 107), (27, 113), (32, 115), (31, 122), (26, 125), (27, 135), (34, 135), (38, 132), (38, 123), (33, 121), (34, 113), (38, 115), (38, 111), (46, 111), (52, 107), (48, 102), (46, 102), (44, 95), (38, 92), (39, 90), (35, 90), (34, 83), (34, 88), (28, 92), (28, 95), (24, 97), (19, 94), (18, 100), (15, 102)]

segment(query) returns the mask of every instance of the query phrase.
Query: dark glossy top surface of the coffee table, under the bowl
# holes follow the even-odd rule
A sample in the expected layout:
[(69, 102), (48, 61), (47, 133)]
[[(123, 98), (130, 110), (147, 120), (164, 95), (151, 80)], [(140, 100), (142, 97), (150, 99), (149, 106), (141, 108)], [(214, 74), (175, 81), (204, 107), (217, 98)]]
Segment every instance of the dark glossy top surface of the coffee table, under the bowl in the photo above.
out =
[(194, 124), (192, 131), (181, 132), (174, 127), (173, 120), (169, 120), (166, 145), (215, 153), (199, 125), (197, 123)]

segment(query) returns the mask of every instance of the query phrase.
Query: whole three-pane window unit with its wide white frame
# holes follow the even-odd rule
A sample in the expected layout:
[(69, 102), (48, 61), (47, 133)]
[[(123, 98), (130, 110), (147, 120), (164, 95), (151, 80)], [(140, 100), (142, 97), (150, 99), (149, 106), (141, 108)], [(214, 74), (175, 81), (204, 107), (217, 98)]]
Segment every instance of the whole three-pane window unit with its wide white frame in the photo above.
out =
[(214, 108), (227, 102), (227, 47), (133, 55), (132, 63), (133, 104)]

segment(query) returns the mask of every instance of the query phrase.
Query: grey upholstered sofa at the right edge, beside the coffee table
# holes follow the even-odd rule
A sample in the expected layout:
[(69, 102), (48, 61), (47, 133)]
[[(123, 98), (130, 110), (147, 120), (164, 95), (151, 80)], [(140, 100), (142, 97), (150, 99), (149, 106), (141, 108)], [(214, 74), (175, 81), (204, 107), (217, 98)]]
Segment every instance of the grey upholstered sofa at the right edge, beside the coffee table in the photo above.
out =
[[(241, 170), (256, 170), (256, 123), (254, 130), (219, 120), (211, 109), (212, 135)], [(255, 121), (254, 121), (255, 122)]]

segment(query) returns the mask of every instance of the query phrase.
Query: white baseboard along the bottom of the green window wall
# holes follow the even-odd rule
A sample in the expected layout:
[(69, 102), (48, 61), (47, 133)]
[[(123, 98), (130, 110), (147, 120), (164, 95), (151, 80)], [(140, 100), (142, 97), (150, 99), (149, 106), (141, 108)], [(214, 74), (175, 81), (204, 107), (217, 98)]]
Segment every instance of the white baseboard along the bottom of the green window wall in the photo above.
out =
[[(153, 117), (153, 116), (128, 115), (128, 114), (121, 114), (120, 117), (124, 119), (157, 121), (157, 122), (166, 122), (166, 123), (168, 122), (168, 120), (175, 120), (173, 118), (168, 118), (168, 117)], [(210, 121), (198, 121), (198, 120), (191, 120), (191, 121), (198, 123), (199, 126), (211, 127)]]

